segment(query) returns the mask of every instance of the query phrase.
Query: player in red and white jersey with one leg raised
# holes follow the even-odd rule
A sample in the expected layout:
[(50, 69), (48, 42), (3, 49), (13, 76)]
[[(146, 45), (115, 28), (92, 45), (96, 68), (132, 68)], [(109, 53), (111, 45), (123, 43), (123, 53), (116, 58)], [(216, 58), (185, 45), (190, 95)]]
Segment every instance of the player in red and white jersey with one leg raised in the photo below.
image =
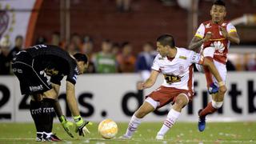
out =
[[(190, 42), (189, 49), (199, 51), (202, 46), (202, 54), (205, 58), (214, 63), (222, 80), (226, 82), (226, 62), (230, 42), (239, 43), (237, 30), (230, 23), (224, 20), (226, 17), (226, 6), (221, 0), (214, 2), (210, 10), (211, 20), (202, 22), (194, 38)], [(218, 91), (218, 82), (210, 74), (206, 66), (197, 66), (199, 71), (204, 71), (206, 75), (207, 88), (212, 96), (212, 101), (206, 108), (198, 110), (199, 121), (198, 130), (203, 131), (206, 127), (206, 115), (212, 114), (222, 107), (224, 94)]]

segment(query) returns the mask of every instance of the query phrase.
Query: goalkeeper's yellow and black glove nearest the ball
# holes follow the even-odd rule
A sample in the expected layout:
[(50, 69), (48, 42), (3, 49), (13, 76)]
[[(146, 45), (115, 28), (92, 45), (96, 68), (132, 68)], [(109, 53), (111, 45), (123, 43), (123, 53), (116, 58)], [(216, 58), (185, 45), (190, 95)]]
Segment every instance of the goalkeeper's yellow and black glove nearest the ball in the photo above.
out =
[(91, 122), (84, 121), (80, 115), (73, 117), (74, 122), (76, 124), (75, 132), (78, 133), (80, 136), (85, 136), (85, 134), (90, 134), (90, 131), (86, 128), (86, 125), (92, 125)]

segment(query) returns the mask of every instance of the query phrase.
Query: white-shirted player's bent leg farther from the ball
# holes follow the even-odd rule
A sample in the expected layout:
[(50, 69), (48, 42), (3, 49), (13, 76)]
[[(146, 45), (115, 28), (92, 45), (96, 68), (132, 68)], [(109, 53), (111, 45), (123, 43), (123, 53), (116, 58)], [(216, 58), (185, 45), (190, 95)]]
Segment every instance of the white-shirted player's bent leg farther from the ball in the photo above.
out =
[(186, 106), (188, 102), (189, 98), (187, 94), (178, 94), (178, 96), (175, 98), (174, 106), (172, 106), (172, 109), (167, 114), (167, 118), (164, 121), (162, 128), (158, 131), (156, 139), (162, 140), (164, 138), (164, 135), (172, 126), (174, 126), (174, 123), (181, 114), (182, 108)]

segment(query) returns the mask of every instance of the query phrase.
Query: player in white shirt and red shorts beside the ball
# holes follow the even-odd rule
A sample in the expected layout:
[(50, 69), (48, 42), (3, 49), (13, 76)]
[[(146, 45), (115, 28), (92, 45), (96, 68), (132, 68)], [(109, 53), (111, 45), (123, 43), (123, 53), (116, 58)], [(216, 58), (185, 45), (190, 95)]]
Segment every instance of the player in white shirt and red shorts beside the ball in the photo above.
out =
[(193, 98), (193, 63), (207, 66), (220, 83), (219, 90), (226, 91), (226, 86), (222, 82), (222, 78), (214, 64), (203, 58), (201, 54), (176, 47), (174, 38), (170, 34), (163, 34), (157, 39), (157, 50), (159, 54), (154, 59), (150, 78), (146, 82), (138, 83), (138, 90), (153, 86), (160, 72), (164, 75), (165, 80), (162, 86), (146, 97), (145, 102), (134, 113), (130, 119), (126, 134), (122, 138), (131, 138), (146, 114), (173, 102), (174, 105), (156, 136), (156, 139), (164, 138), (166, 132), (174, 125), (174, 122), (181, 114), (182, 108)]

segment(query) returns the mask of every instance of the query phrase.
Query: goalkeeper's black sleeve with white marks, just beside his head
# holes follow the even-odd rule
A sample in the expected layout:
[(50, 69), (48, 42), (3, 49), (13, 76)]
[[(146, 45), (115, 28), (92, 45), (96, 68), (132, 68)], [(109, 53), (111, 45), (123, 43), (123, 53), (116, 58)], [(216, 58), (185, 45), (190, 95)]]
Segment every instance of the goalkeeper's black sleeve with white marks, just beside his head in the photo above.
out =
[(67, 74), (66, 76), (66, 81), (71, 82), (75, 85), (78, 78), (78, 66), (74, 61), (69, 62), (69, 65), (70, 71), (69, 74)]

